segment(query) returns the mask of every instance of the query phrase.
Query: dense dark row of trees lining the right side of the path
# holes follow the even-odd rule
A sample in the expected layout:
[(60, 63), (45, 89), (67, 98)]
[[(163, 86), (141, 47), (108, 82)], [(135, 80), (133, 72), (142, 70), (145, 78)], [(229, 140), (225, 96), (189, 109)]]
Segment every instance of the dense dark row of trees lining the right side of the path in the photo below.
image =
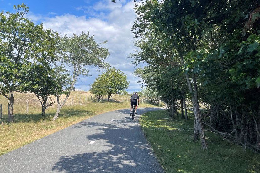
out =
[(194, 140), (203, 149), (205, 126), (260, 152), (259, 1), (134, 2), (140, 49), (131, 56), (148, 64), (137, 69), (141, 84), (160, 95), (172, 117), (177, 103), (192, 102)]

